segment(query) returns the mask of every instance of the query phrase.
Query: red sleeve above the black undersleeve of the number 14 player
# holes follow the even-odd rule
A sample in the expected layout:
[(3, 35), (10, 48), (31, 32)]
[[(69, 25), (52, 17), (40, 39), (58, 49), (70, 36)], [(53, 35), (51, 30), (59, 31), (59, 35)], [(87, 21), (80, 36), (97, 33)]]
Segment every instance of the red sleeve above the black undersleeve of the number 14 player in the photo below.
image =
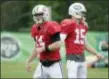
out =
[(61, 32), (60, 25), (57, 22), (50, 23), (48, 32), (50, 35), (54, 35), (57, 32)]

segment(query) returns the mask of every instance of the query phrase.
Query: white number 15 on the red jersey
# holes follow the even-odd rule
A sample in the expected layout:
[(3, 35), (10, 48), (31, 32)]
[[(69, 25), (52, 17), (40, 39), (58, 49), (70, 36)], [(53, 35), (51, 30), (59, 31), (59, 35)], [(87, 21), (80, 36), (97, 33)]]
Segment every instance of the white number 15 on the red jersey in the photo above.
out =
[(83, 34), (85, 32), (84, 29), (76, 29), (75, 33), (76, 33), (76, 39), (74, 41), (74, 43), (76, 44), (84, 44), (84, 38), (85, 35)]

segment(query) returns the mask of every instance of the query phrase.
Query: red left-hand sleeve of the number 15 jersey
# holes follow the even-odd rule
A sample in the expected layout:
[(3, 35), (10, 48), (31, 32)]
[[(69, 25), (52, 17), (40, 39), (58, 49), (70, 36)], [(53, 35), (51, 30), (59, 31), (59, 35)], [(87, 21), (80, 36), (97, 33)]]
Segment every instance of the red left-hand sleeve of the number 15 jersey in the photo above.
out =
[(61, 33), (69, 34), (71, 32), (70, 23), (68, 21), (62, 21), (61, 24)]

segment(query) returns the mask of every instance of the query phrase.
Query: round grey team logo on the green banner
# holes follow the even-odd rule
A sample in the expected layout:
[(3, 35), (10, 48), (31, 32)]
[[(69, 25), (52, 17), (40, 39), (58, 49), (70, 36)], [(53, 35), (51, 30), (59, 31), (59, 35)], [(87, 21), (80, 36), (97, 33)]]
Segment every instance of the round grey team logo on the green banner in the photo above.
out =
[(18, 41), (10, 36), (1, 37), (1, 57), (11, 59), (20, 52)]

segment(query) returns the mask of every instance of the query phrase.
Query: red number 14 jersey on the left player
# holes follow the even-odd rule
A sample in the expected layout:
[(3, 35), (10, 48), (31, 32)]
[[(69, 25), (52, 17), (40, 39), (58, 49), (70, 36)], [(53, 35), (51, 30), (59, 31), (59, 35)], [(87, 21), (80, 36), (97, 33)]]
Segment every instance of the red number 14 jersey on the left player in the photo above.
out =
[[(41, 25), (34, 24), (31, 28), (31, 35), (33, 38), (36, 39), (36, 46), (42, 47), (45, 45), (48, 46), (52, 44), (53, 43), (51, 41), (52, 36), (60, 31), (61, 31), (60, 25), (57, 22), (47, 21)], [(56, 49), (55, 51), (51, 52), (40, 53), (41, 61), (59, 60), (59, 59), (60, 59), (59, 49)]]

